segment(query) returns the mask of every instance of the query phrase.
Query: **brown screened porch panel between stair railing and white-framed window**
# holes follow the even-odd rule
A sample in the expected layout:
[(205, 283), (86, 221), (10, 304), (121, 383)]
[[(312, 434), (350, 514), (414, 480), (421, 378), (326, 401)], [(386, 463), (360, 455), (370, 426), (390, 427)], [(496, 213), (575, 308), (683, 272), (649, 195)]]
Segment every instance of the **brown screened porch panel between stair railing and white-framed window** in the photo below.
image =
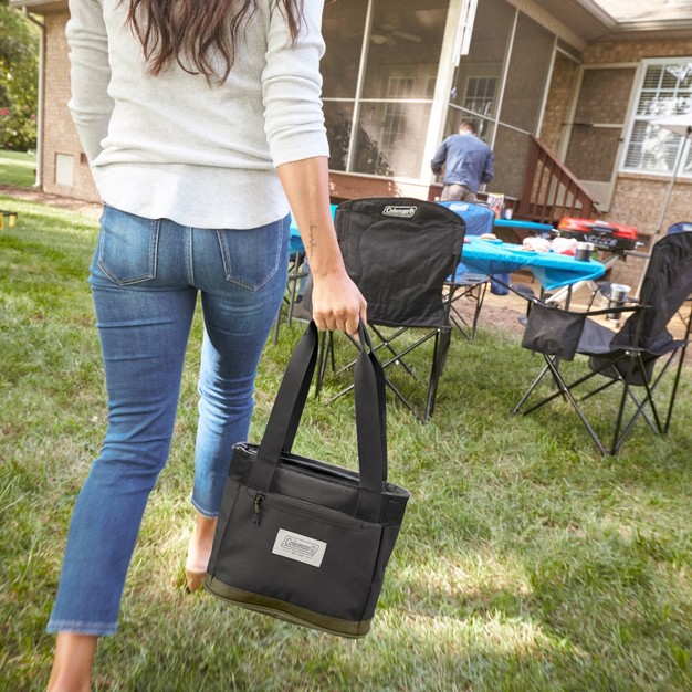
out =
[(608, 211), (636, 69), (585, 67), (569, 123), (565, 165)]

